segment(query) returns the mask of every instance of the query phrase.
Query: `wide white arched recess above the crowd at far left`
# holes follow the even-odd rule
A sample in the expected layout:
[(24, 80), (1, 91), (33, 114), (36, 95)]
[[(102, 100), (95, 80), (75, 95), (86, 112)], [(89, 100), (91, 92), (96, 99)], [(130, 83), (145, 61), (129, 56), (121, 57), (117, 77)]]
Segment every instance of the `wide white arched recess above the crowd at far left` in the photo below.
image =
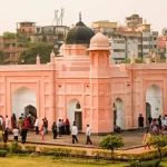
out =
[(21, 114), (26, 114), (26, 110), (30, 111), (32, 107), (33, 110), (37, 107), (36, 92), (33, 90), (28, 89), (26, 87), (21, 87), (13, 92), (12, 114), (16, 115), (17, 119), (21, 116)]

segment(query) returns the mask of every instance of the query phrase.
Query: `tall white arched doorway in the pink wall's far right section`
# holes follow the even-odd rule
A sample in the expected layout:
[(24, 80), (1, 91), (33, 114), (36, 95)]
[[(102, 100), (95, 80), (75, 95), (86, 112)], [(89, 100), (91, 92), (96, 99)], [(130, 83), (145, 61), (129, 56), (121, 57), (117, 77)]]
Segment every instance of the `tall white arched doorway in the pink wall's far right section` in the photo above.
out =
[[(161, 89), (157, 85), (151, 85), (146, 91), (146, 119), (148, 104), (150, 106), (150, 115), (153, 118), (163, 116), (163, 94)], [(147, 109), (148, 108), (148, 109)]]

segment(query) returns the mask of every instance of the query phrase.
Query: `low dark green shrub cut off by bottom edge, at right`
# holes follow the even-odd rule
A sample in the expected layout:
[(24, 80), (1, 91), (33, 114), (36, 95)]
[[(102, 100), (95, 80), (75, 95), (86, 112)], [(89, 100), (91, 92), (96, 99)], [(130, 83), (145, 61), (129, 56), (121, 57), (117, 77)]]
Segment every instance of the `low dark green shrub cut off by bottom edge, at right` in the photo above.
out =
[(131, 167), (159, 167), (160, 160), (151, 160), (151, 161), (132, 161), (130, 163)]

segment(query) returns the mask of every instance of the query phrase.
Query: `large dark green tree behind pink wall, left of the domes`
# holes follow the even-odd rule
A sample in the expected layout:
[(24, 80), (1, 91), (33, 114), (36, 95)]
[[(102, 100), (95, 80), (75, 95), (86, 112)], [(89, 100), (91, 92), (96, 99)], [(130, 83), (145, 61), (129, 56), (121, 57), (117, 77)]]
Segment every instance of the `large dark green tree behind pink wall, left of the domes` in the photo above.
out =
[(21, 52), (19, 58), (19, 63), (35, 65), (37, 55), (40, 56), (40, 62), (47, 63), (50, 62), (50, 53), (53, 49), (53, 46), (47, 43), (38, 43), (29, 47), (28, 50)]

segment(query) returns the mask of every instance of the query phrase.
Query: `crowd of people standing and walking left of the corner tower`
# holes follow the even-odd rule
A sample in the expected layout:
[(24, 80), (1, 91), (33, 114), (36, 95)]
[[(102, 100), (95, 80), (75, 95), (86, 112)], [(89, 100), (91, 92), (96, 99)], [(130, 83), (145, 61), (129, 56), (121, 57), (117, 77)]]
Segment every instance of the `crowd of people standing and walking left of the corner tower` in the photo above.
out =
[[(0, 140), (7, 143), (8, 134), (9, 134), (9, 125), (10, 125), (10, 119), (8, 118), (8, 116), (6, 116), (6, 118), (0, 116), (0, 125), (1, 125)], [(21, 116), (17, 120), (16, 115), (13, 114), (11, 117), (11, 129), (13, 134), (13, 140), (16, 141), (18, 141), (18, 138), (20, 136), (22, 144), (24, 144), (27, 140), (27, 134), (30, 129), (35, 129), (36, 135), (39, 135), (40, 132), (43, 140), (45, 136), (48, 134), (48, 120), (47, 118), (43, 118), (40, 128), (38, 117), (33, 117), (31, 115), (24, 116), (23, 114), (21, 114)], [(69, 119), (66, 119), (66, 121), (63, 121), (63, 119), (59, 119), (58, 124), (53, 121), (51, 126), (51, 130), (52, 130), (53, 139), (56, 139), (57, 136), (61, 137), (62, 135), (71, 135), (72, 144), (79, 143), (78, 127), (76, 126), (76, 121), (73, 121), (72, 127), (70, 129)], [(87, 145), (88, 144), (92, 145), (90, 135), (91, 135), (91, 128), (89, 127), (89, 125), (87, 125), (87, 130), (86, 130)]]

